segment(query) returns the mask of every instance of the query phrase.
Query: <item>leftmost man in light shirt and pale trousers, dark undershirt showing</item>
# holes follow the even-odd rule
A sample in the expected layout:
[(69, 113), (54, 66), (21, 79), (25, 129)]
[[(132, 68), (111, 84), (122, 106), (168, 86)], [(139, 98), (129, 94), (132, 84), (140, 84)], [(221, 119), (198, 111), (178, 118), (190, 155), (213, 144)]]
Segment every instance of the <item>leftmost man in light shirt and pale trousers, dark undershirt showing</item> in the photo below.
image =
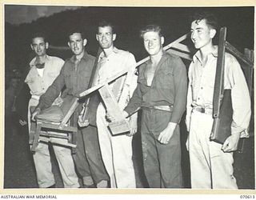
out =
[[(39, 98), (44, 94), (47, 88), (58, 77), (64, 61), (61, 58), (49, 56), (46, 54), (48, 42), (43, 34), (34, 34), (32, 37), (31, 49), (34, 50), (35, 57), (30, 62), (30, 71), (26, 76), (25, 82), (30, 87), (30, 102), (28, 106), (28, 126), (30, 131), (30, 106), (37, 106)], [(55, 138), (57, 140), (66, 139)], [(70, 148), (53, 145), (58, 166), (62, 174), (64, 187), (78, 188), (78, 176), (74, 170), (74, 161), (71, 156)], [(37, 173), (38, 186), (41, 188), (55, 187), (54, 174), (50, 162), (50, 152), (48, 144), (39, 142), (36, 151), (33, 154), (34, 166)]]

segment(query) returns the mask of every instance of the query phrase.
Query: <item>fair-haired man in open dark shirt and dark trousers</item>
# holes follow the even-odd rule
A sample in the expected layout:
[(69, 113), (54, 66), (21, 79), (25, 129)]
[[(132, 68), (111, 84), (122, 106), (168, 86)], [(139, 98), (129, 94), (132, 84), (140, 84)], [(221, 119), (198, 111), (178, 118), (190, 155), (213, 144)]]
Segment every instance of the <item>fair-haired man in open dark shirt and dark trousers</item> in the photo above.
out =
[(142, 154), (150, 187), (182, 187), (179, 122), (186, 108), (186, 66), (167, 54), (161, 28), (141, 30), (150, 60), (139, 67), (138, 86), (126, 106), (126, 117), (142, 108)]

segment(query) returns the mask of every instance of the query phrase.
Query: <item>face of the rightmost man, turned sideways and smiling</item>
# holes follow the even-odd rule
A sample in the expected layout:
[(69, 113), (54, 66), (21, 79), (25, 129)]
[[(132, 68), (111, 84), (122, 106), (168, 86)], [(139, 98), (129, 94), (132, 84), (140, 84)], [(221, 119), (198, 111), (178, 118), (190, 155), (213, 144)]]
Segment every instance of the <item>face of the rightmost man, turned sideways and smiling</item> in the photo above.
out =
[(196, 49), (202, 49), (204, 46), (211, 44), (212, 38), (216, 33), (216, 30), (207, 26), (206, 19), (192, 22), (190, 31), (190, 38)]

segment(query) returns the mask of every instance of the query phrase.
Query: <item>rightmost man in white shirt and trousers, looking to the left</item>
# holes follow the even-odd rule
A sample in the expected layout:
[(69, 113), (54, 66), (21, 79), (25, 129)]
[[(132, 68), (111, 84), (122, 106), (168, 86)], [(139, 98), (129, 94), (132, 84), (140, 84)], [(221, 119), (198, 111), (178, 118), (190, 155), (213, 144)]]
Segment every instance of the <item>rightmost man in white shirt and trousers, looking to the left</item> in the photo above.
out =
[(189, 68), (186, 125), (190, 132), (191, 187), (197, 189), (237, 189), (233, 175), (233, 151), (240, 137), (248, 137), (250, 94), (241, 67), (234, 56), (225, 54), (224, 90), (231, 90), (233, 122), (231, 135), (222, 144), (210, 141), (213, 126), (213, 98), (218, 46), (213, 38), (217, 21), (213, 14), (194, 14), (191, 40), (198, 52)]

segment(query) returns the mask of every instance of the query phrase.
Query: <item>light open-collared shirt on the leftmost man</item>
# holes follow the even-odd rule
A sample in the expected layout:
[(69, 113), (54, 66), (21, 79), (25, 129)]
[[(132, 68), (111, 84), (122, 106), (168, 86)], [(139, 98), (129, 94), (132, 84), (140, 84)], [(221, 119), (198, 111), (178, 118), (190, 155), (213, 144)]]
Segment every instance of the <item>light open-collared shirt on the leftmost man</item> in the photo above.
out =
[[(40, 97), (58, 77), (64, 61), (61, 58), (46, 55), (45, 67), (37, 69), (36, 58), (30, 62), (30, 71), (26, 75), (25, 82), (30, 87), (32, 97)], [(59, 93), (58, 93), (59, 94)], [(58, 96), (58, 95), (57, 95)], [(55, 99), (55, 98), (54, 98)]]

